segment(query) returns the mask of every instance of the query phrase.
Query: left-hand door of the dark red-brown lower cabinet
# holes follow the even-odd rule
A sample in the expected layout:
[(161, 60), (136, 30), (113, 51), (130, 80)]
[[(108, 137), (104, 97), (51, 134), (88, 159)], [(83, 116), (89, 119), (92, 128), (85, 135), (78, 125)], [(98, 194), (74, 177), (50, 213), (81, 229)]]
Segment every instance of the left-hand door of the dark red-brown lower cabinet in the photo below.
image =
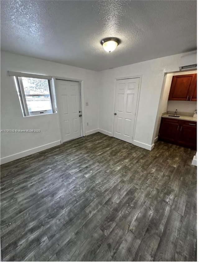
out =
[(165, 142), (174, 143), (177, 141), (179, 120), (162, 117), (159, 139)]

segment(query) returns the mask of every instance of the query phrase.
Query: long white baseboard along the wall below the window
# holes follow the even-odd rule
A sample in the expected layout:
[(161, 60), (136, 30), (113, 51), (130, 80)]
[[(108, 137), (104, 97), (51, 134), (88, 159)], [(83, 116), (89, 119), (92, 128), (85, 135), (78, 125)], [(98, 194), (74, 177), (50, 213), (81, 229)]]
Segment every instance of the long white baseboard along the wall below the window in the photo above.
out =
[(49, 149), (49, 148), (54, 147), (56, 145), (61, 145), (61, 141), (58, 140), (58, 141), (55, 141), (55, 142), (52, 142), (52, 143), (49, 143), (49, 144), (46, 144), (46, 145), (41, 145), (41, 146), (38, 146), (38, 147), (35, 147), (35, 148), (32, 148), (32, 149), (14, 154), (14, 155), (3, 157), (3, 158), (1, 158), (1, 165), (8, 163), (8, 162), (11, 162), (11, 161), (16, 160), (16, 159), (31, 155), (31, 154), (38, 153), (40, 151), (43, 151), (45, 149)]

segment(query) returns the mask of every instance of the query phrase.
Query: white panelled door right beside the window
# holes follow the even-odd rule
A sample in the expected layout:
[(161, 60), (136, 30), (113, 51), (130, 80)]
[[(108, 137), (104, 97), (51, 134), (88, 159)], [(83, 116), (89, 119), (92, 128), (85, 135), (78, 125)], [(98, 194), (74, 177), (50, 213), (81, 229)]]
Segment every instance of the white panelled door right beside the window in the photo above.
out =
[(56, 80), (56, 98), (62, 143), (82, 136), (80, 83)]

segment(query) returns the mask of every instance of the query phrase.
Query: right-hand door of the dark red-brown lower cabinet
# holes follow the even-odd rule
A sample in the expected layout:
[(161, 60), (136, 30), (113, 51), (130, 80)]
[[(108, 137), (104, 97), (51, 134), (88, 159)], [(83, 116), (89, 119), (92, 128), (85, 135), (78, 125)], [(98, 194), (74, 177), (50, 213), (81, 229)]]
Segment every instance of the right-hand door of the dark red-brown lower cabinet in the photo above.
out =
[(177, 143), (178, 145), (196, 149), (197, 122), (181, 120)]

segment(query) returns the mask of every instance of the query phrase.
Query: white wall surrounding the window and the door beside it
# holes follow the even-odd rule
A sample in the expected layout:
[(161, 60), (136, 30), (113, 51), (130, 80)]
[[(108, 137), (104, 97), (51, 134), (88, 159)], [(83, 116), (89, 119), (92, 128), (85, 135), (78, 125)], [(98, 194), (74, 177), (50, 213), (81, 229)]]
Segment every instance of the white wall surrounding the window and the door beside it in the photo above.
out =
[[(1, 52), (1, 129), (40, 129), (40, 133), (1, 133), (1, 163), (60, 143), (57, 114), (23, 117), (14, 77), (7, 71), (83, 80), (86, 134), (98, 130), (98, 72)], [(36, 148), (36, 149), (35, 149)], [(24, 152), (25, 151), (25, 152)], [(23, 153), (22, 153), (23, 152)]]

